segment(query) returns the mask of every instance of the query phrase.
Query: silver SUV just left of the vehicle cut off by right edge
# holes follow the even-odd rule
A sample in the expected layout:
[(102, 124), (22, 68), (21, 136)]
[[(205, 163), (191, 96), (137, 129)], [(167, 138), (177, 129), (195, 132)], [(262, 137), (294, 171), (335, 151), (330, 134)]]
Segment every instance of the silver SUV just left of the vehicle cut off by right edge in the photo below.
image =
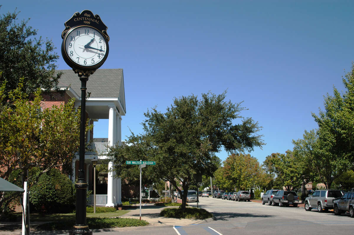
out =
[(342, 196), (341, 190), (316, 190), (305, 199), (305, 210), (310, 211), (312, 208), (317, 208), (318, 212), (328, 211), (333, 209), (333, 201), (342, 198)]

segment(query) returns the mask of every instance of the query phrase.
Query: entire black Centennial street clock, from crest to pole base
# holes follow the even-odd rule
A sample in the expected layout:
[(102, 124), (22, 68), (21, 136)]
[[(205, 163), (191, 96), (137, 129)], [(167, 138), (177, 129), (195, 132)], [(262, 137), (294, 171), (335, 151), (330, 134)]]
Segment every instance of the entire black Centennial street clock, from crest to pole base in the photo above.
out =
[(96, 69), (101, 67), (108, 56), (107, 27), (98, 15), (85, 10), (76, 12), (65, 22), (62, 32), (62, 55), (65, 62), (78, 74), (81, 81), (81, 118), (80, 118), (80, 149), (79, 177), (76, 188), (76, 223), (69, 235), (92, 235), (86, 223), (85, 180), (85, 124), (86, 124), (86, 82)]

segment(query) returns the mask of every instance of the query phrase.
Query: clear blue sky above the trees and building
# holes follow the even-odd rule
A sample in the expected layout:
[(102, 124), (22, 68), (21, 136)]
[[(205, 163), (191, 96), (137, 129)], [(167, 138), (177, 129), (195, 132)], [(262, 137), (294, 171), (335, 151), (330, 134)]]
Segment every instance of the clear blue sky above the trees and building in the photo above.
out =
[[(101, 17), (110, 36), (101, 68), (124, 70), (123, 140), (129, 128), (141, 133), (147, 108), (164, 112), (173, 97), (227, 89), (228, 100), (249, 109), (242, 116), (263, 126), (267, 145), (251, 152), (260, 163), (317, 127), (311, 112), (333, 86), (343, 89), (354, 60), (354, 1), (15, 0), (0, 13), (16, 7), (60, 56), (66, 20), (83, 10)], [(62, 58), (58, 69), (69, 69)], [(96, 123), (95, 137), (108, 136), (107, 123)]]

